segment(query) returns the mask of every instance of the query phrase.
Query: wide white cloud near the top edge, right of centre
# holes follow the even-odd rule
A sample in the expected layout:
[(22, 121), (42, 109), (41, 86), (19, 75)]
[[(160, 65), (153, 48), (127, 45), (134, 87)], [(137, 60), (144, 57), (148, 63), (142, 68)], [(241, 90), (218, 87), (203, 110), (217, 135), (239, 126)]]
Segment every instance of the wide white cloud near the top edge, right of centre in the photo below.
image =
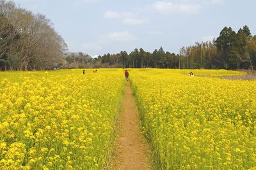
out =
[(152, 8), (161, 13), (187, 13), (194, 14), (199, 13), (201, 6), (200, 4), (174, 4), (170, 1), (157, 1), (152, 4)]

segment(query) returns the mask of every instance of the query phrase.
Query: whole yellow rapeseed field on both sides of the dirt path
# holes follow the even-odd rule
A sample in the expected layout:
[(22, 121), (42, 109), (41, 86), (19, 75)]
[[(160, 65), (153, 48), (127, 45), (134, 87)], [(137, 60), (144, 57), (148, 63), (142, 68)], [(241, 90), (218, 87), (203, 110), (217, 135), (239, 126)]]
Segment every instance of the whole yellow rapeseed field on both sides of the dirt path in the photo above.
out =
[[(105, 169), (124, 70), (0, 73), (0, 169)], [(129, 69), (157, 169), (255, 169), (256, 81)]]

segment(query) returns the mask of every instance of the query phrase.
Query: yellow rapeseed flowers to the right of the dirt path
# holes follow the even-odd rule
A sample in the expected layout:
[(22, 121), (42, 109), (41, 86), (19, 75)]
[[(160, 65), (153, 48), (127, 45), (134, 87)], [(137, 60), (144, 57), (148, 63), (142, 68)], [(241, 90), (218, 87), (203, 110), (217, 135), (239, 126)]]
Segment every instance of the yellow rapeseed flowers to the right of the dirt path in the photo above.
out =
[[(158, 169), (255, 169), (256, 81), (130, 71), (141, 123)], [(223, 70), (201, 75), (241, 75)]]

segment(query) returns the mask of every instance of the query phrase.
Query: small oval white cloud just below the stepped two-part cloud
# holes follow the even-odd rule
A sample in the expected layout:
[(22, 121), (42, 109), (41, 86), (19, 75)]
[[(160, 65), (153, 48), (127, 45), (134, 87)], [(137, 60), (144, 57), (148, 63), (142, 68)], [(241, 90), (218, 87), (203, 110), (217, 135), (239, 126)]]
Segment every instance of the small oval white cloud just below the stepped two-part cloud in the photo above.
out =
[(107, 40), (110, 41), (134, 41), (138, 38), (128, 31), (110, 32), (106, 35)]

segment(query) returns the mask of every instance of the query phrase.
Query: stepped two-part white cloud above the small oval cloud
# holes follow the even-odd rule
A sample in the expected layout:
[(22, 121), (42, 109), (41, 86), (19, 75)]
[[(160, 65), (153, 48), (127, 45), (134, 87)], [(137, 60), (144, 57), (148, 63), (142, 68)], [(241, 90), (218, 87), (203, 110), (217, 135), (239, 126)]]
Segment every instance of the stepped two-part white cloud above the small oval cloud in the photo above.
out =
[(108, 19), (120, 19), (122, 20), (122, 23), (125, 25), (144, 25), (149, 22), (148, 18), (138, 17), (134, 13), (125, 11), (106, 11), (104, 17)]

